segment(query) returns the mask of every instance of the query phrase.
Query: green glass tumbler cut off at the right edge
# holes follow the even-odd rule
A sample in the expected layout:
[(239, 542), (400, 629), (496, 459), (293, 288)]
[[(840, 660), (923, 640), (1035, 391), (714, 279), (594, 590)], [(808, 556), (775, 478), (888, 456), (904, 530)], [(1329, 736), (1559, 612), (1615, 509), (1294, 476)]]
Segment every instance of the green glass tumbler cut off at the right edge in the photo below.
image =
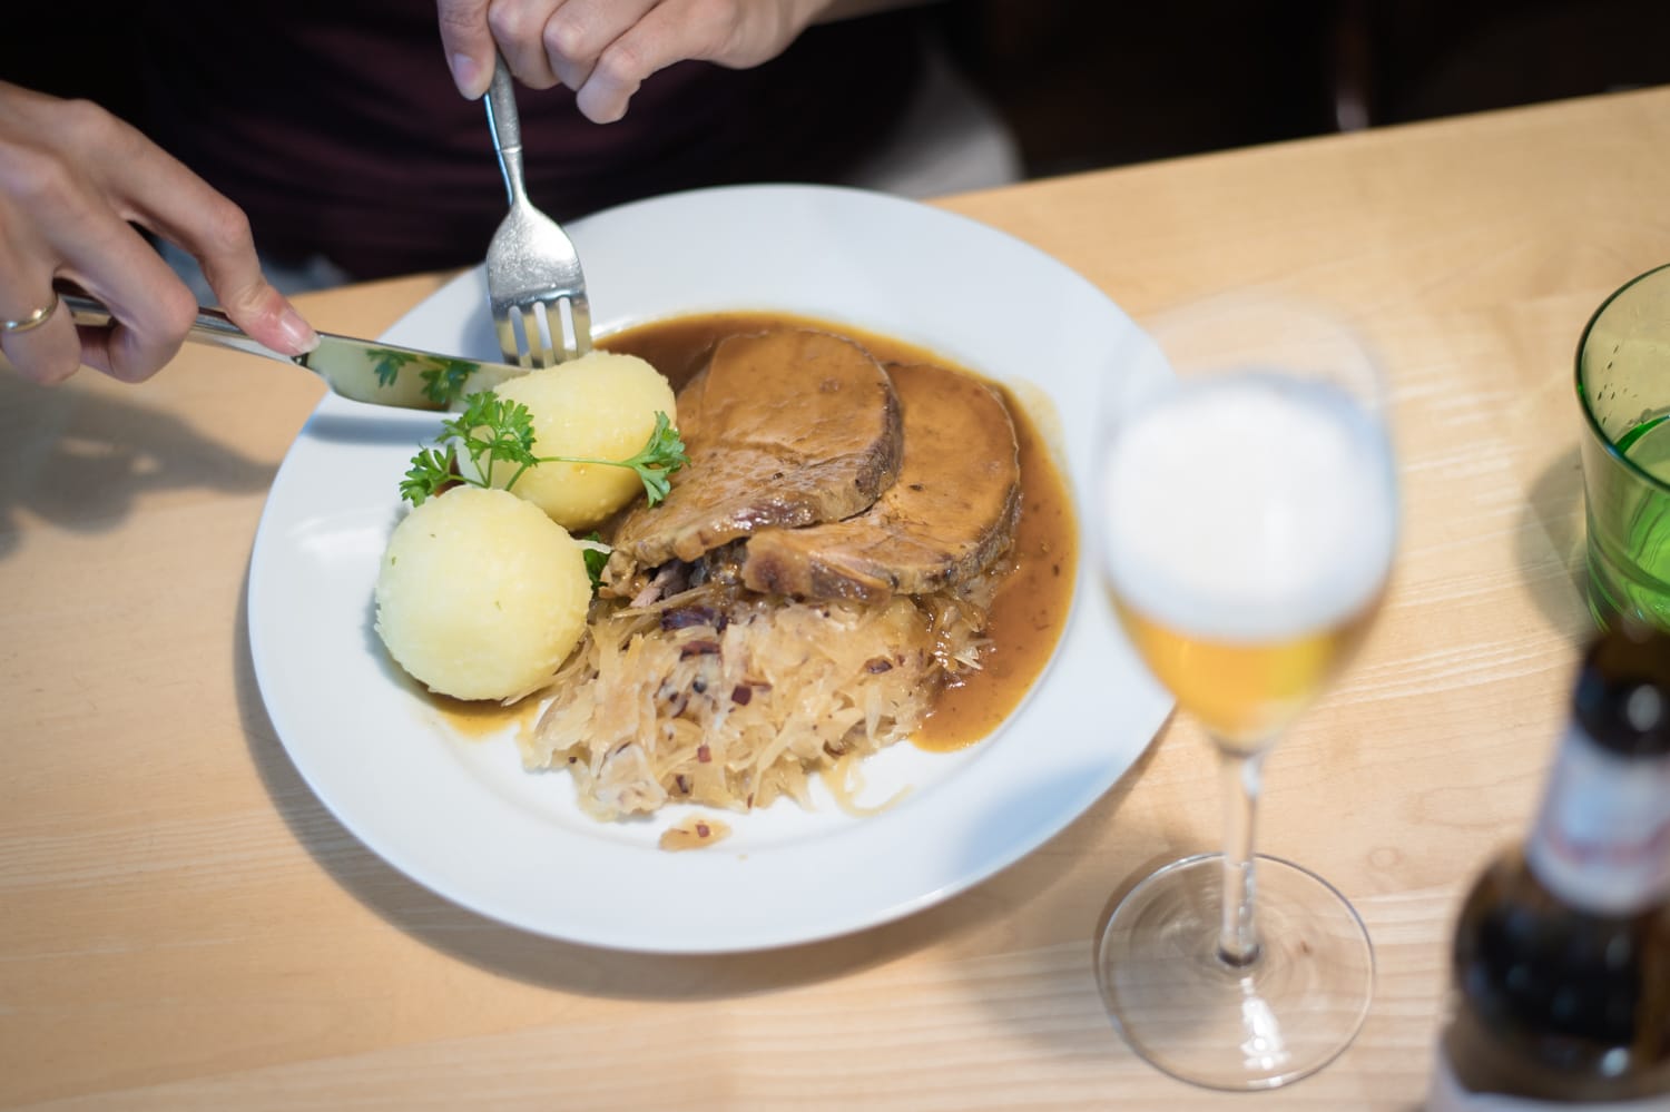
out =
[(1670, 629), (1670, 267), (1625, 284), (1576, 349), (1588, 606)]

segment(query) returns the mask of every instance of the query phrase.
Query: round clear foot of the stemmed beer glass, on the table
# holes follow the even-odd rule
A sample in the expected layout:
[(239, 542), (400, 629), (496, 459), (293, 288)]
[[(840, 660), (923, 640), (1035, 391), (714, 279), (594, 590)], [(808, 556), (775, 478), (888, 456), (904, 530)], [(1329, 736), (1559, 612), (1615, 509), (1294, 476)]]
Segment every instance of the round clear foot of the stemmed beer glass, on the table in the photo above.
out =
[(1217, 955), (1222, 855), (1166, 865), (1119, 902), (1096, 975), (1114, 1027), (1157, 1069), (1207, 1089), (1274, 1089), (1351, 1045), (1374, 990), (1363, 920), (1326, 880), (1256, 858), (1259, 955)]

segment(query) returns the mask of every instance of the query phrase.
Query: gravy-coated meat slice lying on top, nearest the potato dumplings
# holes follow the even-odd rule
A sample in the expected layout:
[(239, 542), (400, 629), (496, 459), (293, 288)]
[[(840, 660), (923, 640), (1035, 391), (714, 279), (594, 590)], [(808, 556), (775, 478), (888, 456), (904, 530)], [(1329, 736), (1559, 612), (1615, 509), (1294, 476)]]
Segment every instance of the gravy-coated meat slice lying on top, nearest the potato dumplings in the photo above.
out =
[(765, 528), (838, 521), (898, 474), (892, 379), (863, 347), (805, 329), (731, 336), (678, 394), (690, 466), (621, 521), (611, 583)]

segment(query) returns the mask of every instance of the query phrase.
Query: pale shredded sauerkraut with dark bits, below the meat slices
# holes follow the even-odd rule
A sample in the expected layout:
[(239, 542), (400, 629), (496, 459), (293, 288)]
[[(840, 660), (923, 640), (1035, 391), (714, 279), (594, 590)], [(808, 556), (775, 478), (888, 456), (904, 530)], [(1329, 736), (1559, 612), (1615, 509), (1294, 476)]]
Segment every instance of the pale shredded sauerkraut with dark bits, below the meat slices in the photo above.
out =
[(979, 668), (1005, 556), (959, 589), (882, 603), (793, 601), (708, 581), (598, 599), (523, 763), (566, 768), (596, 818), (698, 803), (733, 811), (908, 738)]

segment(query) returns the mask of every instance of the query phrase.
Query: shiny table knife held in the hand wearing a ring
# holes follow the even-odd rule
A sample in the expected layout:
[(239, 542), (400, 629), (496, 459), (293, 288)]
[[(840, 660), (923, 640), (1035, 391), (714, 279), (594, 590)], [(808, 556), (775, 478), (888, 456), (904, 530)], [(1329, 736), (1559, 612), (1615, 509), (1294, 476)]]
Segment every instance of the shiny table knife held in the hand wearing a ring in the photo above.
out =
[[(94, 327), (110, 324), (110, 311), (99, 301), (82, 294), (62, 297), (77, 324)], [(317, 374), (342, 397), (399, 409), (448, 409), (464, 394), (494, 389), (528, 374), (528, 367), (443, 356), (334, 332), (319, 332), (319, 346), (304, 356), (286, 356), (250, 337), (220, 309), (205, 307), (197, 309), (197, 321), (185, 339), (292, 362)]]

